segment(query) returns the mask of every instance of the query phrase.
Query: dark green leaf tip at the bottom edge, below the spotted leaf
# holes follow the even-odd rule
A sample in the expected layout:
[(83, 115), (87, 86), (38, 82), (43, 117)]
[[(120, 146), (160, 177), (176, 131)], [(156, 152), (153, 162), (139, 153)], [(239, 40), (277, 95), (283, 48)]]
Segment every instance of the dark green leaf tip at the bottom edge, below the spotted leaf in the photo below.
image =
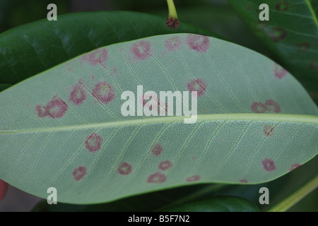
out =
[(254, 203), (235, 196), (218, 196), (179, 204), (160, 211), (164, 212), (258, 212)]

